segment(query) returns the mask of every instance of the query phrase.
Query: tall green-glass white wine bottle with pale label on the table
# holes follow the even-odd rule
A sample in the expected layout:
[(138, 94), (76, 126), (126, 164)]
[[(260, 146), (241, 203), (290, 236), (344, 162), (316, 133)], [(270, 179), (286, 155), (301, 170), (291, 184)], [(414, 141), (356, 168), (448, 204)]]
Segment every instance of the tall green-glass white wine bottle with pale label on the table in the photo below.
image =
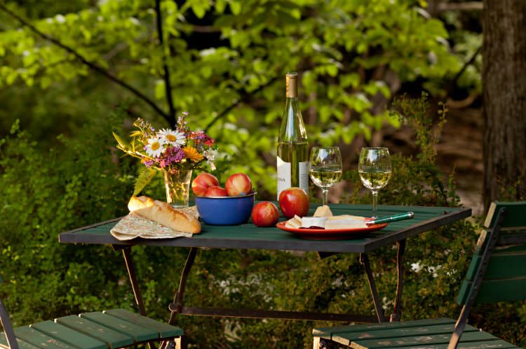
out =
[(278, 198), (290, 187), (309, 194), (309, 143), (297, 97), (297, 73), (286, 75), (286, 101), (278, 136)]

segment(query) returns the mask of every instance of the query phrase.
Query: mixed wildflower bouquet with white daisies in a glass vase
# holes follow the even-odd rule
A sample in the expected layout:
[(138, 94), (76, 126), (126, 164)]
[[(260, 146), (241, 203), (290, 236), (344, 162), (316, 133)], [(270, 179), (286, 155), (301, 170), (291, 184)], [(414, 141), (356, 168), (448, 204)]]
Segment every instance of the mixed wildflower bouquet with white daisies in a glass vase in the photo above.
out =
[(217, 150), (214, 140), (203, 131), (191, 131), (187, 124), (188, 113), (177, 119), (175, 130), (157, 131), (149, 122), (137, 119), (133, 123), (131, 142), (126, 143), (113, 133), (117, 148), (137, 157), (145, 168), (135, 182), (133, 195), (139, 194), (157, 171), (162, 171), (166, 187), (166, 201), (176, 207), (188, 206), (189, 185), (193, 169), (212, 163)]

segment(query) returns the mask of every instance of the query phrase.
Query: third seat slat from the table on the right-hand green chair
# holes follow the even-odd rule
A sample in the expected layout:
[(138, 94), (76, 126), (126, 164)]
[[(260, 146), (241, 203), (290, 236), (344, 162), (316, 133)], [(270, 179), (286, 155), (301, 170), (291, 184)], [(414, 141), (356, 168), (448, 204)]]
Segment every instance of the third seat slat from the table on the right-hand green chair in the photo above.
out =
[[(428, 346), (434, 344), (447, 344), (450, 342), (451, 332), (447, 334), (433, 334), (431, 336), (407, 336), (394, 339), (358, 339), (352, 342), (356, 348), (399, 348), (404, 346)], [(497, 337), (487, 332), (464, 332), (461, 336), (462, 342), (492, 341)]]

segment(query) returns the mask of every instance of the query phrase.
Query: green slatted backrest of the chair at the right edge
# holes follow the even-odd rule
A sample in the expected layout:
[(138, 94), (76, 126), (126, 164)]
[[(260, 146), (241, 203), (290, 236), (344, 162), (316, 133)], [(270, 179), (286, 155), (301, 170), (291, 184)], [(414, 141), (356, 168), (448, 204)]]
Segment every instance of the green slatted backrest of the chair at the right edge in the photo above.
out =
[(526, 299), (526, 201), (490, 206), (457, 302), (466, 304), (470, 295), (473, 304)]

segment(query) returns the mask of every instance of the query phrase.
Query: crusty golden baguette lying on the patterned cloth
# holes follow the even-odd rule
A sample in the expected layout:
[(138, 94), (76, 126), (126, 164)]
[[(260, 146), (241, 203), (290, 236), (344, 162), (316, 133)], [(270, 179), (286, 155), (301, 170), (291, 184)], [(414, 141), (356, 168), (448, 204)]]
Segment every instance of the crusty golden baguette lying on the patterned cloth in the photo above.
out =
[(176, 232), (199, 233), (201, 223), (191, 213), (178, 211), (170, 204), (153, 200), (149, 197), (131, 197), (128, 202), (130, 212), (142, 215), (144, 218), (158, 222)]

